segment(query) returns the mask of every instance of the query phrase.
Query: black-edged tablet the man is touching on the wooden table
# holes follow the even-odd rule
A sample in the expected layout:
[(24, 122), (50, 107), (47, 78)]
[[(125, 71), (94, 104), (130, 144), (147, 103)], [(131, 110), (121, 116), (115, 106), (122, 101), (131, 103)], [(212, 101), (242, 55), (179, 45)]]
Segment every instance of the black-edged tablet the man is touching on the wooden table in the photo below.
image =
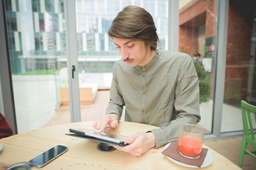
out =
[[(107, 131), (98, 133), (97, 130), (92, 130), (92, 129), (72, 129), (71, 128), (70, 132), (77, 134), (78, 136), (75, 135), (76, 137), (83, 137), (83, 138), (91, 139), (91, 140), (98, 141), (98, 142), (113, 144), (113, 145), (117, 145), (117, 146), (128, 145), (125, 142), (127, 136), (117, 135), (117, 134), (110, 133)], [(66, 135), (70, 135), (70, 134), (66, 134)], [(74, 135), (71, 135), (71, 136), (74, 136)]]

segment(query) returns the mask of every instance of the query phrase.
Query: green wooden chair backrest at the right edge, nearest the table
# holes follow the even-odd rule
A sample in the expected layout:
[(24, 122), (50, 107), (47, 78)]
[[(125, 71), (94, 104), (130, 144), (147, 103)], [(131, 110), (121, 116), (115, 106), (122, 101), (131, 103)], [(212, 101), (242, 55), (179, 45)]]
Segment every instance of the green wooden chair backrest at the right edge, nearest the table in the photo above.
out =
[[(247, 103), (245, 100), (241, 100), (241, 109), (243, 117), (244, 135), (249, 136), (251, 134), (252, 139), (255, 141), (252, 121), (256, 122), (256, 106)], [(254, 113), (254, 120), (252, 120), (251, 113)]]

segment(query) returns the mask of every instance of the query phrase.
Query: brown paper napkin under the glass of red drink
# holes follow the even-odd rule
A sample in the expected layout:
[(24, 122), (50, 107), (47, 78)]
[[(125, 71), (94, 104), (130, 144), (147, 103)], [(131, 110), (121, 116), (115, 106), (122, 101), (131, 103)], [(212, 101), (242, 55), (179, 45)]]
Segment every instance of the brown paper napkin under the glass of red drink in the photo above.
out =
[(178, 141), (173, 141), (168, 146), (168, 148), (163, 150), (162, 154), (164, 154), (172, 159), (175, 159), (176, 161), (186, 163), (189, 165), (193, 165), (193, 166), (201, 167), (204, 162), (204, 158), (206, 157), (207, 151), (208, 151), (207, 148), (202, 148), (202, 153), (199, 158), (189, 159), (189, 158), (186, 158), (186, 157), (180, 155), (180, 153), (178, 151)]

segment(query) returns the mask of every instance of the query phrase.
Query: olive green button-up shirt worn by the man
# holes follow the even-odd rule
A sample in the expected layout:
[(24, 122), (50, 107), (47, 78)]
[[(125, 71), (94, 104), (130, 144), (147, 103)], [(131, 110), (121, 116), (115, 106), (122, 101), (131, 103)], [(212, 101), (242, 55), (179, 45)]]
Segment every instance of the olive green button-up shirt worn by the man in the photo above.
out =
[(144, 66), (130, 67), (119, 60), (113, 68), (106, 114), (118, 120), (125, 106), (125, 121), (158, 126), (156, 147), (177, 140), (177, 125), (197, 124), (199, 85), (192, 58), (181, 52), (156, 50)]

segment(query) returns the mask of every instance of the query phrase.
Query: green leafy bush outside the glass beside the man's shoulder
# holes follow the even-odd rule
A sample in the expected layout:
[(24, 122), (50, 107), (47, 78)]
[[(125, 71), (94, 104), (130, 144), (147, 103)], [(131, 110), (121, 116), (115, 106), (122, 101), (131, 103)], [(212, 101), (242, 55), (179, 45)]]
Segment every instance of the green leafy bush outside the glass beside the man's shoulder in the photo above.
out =
[(194, 65), (199, 80), (199, 102), (207, 102), (209, 101), (211, 94), (210, 78), (207, 75), (207, 72), (204, 70), (204, 66), (202, 65), (202, 63), (194, 62)]

